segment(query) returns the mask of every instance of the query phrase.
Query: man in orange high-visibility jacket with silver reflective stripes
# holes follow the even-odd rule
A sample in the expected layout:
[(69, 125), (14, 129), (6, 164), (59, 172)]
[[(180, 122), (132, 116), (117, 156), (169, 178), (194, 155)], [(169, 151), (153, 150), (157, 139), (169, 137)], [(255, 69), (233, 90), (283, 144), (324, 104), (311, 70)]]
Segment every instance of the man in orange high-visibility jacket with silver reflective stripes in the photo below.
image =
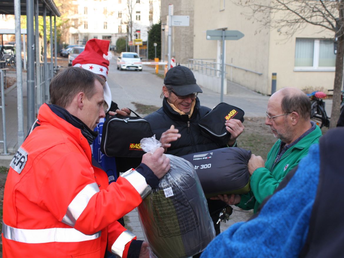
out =
[(147, 243), (130, 254), (136, 237), (116, 220), (138, 206), (170, 168), (159, 148), (136, 170), (108, 184), (92, 164), (89, 142), (103, 109), (104, 80), (79, 67), (50, 84), (36, 127), (14, 155), (4, 191), (3, 257), (148, 258)]

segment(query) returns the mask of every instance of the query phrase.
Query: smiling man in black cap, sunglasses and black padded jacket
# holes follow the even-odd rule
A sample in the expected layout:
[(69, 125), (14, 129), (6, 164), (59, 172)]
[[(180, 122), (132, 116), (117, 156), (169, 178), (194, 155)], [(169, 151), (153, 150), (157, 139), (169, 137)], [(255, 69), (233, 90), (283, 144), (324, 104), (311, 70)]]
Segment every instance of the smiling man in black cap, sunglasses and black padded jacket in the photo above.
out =
[[(165, 153), (180, 157), (190, 153), (236, 146), (236, 139), (244, 130), (240, 120), (230, 119), (224, 123), (231, 136), (228, 142), (223, 144), (201, 133), (198, 122), (211, 109), (200, 105), (198, 93), (202, 93), (202, 89), (197, 85), (195, 76), (189, 68), (178, 65), (166, 73), (161, 94), (162, 107), (145, 117), (155, 137), (160, 139)], [(216, 224), (218, 216), (225, 206), (222, 201), (208, 200), (216, 235), (220, 233), (220, 223)]]

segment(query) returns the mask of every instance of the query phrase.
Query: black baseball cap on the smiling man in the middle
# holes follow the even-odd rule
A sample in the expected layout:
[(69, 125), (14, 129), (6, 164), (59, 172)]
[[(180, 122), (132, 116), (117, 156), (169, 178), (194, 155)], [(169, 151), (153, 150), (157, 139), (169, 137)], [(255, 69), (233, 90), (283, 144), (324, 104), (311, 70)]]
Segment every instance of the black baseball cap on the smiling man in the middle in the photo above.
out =
[(196, 84), (195, 76), (186, 66), (177, 65), (169, 69), (164, 79), (164, 85), (172, 87), (179, 96), (190, 95), (194, 92), (202, 93), (200, 86)]

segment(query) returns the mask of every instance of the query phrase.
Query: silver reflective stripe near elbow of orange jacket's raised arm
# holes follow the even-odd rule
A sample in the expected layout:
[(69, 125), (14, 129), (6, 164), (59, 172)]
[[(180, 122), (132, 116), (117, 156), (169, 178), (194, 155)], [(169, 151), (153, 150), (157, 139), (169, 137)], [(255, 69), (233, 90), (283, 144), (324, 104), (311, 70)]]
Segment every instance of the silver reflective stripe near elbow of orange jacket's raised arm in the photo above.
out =
[(98, 193), (99, 187), (97, 183), (88, 184), (81, 190), (69, 204), (66, 215), (63, 217), (62, 222), (74, 227), (76, 220), (86, 208), (90, 198)]

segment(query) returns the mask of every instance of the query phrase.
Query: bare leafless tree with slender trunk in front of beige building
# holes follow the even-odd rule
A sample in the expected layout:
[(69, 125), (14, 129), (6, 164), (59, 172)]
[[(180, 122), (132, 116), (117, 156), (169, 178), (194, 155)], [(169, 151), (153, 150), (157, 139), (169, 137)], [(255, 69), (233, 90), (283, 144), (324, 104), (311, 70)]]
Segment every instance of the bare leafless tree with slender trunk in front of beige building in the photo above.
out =
[(340, 114), (344, 54), (344, 0), (232, 0), (248, 7), (247, 17), (262, 27), (277, 28), (281, 34), (292, 36), (308, 24), (321, 30), (333, 31), (337, 38), (336, 70), (330, 127), (335, 127)]

